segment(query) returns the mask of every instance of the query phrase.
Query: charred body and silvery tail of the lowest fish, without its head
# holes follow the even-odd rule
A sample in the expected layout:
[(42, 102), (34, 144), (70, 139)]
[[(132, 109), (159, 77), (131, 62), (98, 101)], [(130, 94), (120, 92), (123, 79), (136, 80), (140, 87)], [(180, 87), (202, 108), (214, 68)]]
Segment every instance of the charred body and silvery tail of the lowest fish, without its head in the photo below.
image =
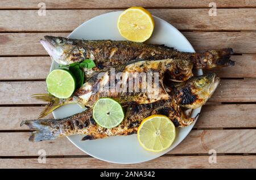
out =
[(82, 140), (102, 139), (108, 136), (136, 134), (142, 120), (152, 114), (167, 115), (176, 127), (191, 125), (195, 118), (187, 118), (182, 114), (174, 100), (162, 100), (152, 104), (132, 105), (127, 107), (125, 119), (117, 127), (104, 128), (98, 126), (93, 119), (92, 109), (63, 119), (26, 120), (20, 126), (27, 125), (30, 130), (29, 140), (40, 142), (63, 136), (85, 135)]

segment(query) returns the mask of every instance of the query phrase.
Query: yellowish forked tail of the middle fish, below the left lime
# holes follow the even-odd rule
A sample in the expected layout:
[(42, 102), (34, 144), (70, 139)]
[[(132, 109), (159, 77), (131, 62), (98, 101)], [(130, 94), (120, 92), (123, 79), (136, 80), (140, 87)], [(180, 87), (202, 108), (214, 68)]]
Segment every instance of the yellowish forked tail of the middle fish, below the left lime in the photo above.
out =
[(48, 102), (44, 110), (39, 114), (39, 117), (38, 117), (39, 119), (45, 117), (47, 114), (53, 112), (53, 110), (59, 108), (60, 106), (63, 106), (64, 104), (68, 104), (66, 101), (63, 101), (50, 94), (35, 94), (35, 95), (32, 95), (32, 97), (36, 98), (37, 100)]

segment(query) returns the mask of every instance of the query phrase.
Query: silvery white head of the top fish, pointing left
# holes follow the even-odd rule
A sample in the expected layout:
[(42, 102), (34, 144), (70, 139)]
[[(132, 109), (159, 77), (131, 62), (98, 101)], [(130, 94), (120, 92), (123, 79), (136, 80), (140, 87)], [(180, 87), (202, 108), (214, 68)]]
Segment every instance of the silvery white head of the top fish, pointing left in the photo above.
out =
[(61, 65), (70, 65), (85, 59), (86, 52), (81, 43), (65, 37), (44, 36), (40, 40), (51, 58)]

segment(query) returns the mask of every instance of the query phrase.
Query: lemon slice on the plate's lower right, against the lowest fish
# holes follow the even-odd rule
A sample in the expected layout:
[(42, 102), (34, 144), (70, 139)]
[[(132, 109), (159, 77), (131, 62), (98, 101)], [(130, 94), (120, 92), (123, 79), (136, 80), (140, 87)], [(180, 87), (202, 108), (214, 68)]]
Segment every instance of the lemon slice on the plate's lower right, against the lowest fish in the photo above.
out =
[(147, 151), (164, 151), (174, 142), (175, 126), (165, 115), (151, 115), (138, 128), (138, 140)]

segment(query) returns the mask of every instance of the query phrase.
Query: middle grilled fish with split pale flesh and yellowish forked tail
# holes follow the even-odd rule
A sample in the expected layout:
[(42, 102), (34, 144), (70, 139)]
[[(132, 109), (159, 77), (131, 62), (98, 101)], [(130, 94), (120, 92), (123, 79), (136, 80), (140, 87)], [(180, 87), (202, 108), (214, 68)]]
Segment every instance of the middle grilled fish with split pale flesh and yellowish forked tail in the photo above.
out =
[(35, 95), (35, 98), (49, 102), (39, 118), (65, 104), (78, 103), (92, 107), (102, 97), (111, 97), (122, 105), (167, 100), (169, 95), (163, 85), (164, 74), (167, 73), (172, 81), (185, 81), (193, 75), (192, 66), (190, 61), (164, 59), (138, 61), (115, 69), (94, 72), (70, 98), (58, 99), (52, 95)]

